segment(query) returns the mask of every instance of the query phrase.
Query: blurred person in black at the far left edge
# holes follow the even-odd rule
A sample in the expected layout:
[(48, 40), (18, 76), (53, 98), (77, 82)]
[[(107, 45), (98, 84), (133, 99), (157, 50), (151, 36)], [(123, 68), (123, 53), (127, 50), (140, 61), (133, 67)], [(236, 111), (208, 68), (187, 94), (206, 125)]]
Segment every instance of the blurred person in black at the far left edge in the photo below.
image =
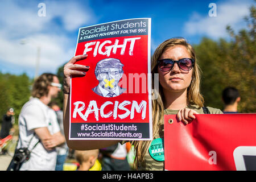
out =
[(13, 124), (15, 122), (14, 115), (15, 113), (13, 108), (9, 108), (6, 114), (3, 115), (0, 138), (7, 137), (10, 131), (14, 132), (14, 129), (13, 129)]

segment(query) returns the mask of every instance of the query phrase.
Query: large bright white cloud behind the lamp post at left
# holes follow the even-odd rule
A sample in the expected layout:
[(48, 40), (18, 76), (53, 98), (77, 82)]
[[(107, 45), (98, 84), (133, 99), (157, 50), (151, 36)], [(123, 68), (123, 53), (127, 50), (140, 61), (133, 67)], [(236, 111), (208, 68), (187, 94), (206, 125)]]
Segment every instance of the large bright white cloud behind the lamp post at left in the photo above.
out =
[(25, 44), (20, 44), (18, 39), (6, 39), (2, 35), (0, 39), (1, 59), (20, 67), (34, 68), (37, 48), (40, 47), (39, 68), (44, 72), (55, 72), (57, 67), (68, 61), (67, 59), (75, 53), (75, 48), (65, 46), (71, 42), (65, 36), (36, 34), (28, 36)]

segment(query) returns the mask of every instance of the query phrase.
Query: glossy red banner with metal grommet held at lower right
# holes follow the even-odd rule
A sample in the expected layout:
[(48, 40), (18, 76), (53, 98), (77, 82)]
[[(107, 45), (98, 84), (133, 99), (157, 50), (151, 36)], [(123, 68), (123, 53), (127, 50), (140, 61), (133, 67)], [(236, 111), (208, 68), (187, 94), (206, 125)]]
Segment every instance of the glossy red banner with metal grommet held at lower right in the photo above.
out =
[(164, 115), (166, 170), (256, 170), (256, 114)]

